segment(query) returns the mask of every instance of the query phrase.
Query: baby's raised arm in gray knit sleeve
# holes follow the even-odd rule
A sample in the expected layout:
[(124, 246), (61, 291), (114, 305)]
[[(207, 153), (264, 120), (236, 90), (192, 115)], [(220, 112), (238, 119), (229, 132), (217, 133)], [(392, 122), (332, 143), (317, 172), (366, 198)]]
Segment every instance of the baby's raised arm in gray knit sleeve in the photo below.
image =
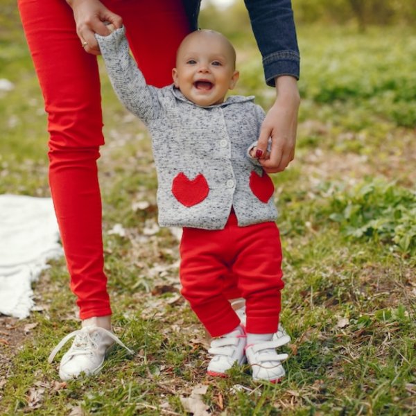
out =
[(96, 34), (96, 39), (114, 91), (130, 112), (149, 123), (159, 110), (156, 88), (146, 85), (143, 74), (131, 57), (125, 28), (114, 31), (112, 24), (107, 28), (112, 31), (111, 35)]

